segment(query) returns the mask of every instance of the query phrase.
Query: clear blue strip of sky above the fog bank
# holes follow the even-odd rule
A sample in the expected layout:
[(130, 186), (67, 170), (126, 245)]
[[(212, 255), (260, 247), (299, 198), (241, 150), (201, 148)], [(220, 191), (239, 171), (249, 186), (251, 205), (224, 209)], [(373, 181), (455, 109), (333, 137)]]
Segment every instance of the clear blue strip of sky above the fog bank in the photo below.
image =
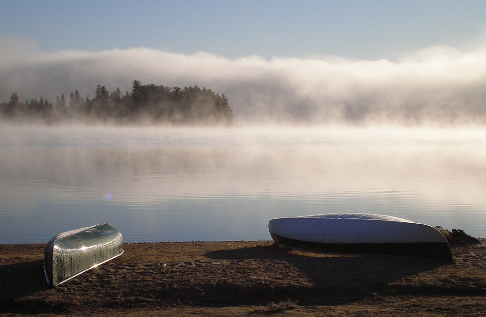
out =
[(484, 0), (0, 0), (0, 36), (43, 52), (146, 47), (226, 58), (390, 59), (484, 36)]

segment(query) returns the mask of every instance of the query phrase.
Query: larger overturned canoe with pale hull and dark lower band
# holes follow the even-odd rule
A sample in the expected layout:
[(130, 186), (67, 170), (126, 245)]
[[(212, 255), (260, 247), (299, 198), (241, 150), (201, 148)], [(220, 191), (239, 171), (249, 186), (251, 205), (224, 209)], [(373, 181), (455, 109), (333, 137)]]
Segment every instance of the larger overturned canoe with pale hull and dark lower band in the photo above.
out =
[(276, 218), (268, 229), (276, 244), (293, 249), (452, 261), (451, 247), (438, 230), (399, 217), (336, 213)]

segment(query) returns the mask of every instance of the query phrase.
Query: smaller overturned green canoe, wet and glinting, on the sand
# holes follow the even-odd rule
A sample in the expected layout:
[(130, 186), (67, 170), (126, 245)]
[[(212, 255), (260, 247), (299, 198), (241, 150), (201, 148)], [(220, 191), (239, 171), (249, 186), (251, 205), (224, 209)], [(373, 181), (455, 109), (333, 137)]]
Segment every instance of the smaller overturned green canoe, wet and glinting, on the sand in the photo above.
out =
[(44, 274), (53, 287), (123, 253), (123, 239), (109, 223), (63, 232), (46, 245)]

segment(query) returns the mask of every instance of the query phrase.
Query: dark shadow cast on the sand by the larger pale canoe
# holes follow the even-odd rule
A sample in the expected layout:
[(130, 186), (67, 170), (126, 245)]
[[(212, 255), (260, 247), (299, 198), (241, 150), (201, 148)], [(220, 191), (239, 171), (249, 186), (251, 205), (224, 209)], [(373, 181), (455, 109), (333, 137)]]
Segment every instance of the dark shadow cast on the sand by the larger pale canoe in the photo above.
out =
[[(214, 260), (271, 262), (281, 269), (287, 283), (252, 287), (255, 297), (267, 302), (297, 300), (302, 305), (341, 305), (377, 296), (389, 289), (389, 283), (420, 272), (449, 265), (441, 260), (382, 255), (323, 255), (289, 250), (278, 246), (256, 246), (206, 253)], [(302, 277), (293, 279), (286, 271), (293, 267)], [(268, 275), (268, 272), (260, 272)], [(258, 275), (259, 272), (255, 272)], [(309, 282), (301, 283), (307, 279)], [(224, 285), (223, 288), (228, 288)], [(251, 287), (246, 292), (251, 292)], [(246, 294), (250, 297), (250, 294)]]

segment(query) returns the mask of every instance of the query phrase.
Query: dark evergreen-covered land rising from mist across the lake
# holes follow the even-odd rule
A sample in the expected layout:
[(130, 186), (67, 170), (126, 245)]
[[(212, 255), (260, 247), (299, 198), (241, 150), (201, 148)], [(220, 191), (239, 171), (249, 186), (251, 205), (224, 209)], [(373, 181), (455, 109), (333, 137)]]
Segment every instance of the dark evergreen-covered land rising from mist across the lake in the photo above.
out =
[(154, 83), (132, 83), (132, 91), (121, 93), (120, 88), (109, 92), (97, 85), (93, 99), (81, 98), (78, 90), (66, 99), (64, 94), (54, 102), (26, 99), (17, 92), (8, 102), (0, 103), (0, 115), (13, 122), (40, 121), (49, 124), (66, 121), (98, 121), (121, 124), (224, 124), (233, 123), (233, 110), (225, 94), (198, 86), (170, 88)]

